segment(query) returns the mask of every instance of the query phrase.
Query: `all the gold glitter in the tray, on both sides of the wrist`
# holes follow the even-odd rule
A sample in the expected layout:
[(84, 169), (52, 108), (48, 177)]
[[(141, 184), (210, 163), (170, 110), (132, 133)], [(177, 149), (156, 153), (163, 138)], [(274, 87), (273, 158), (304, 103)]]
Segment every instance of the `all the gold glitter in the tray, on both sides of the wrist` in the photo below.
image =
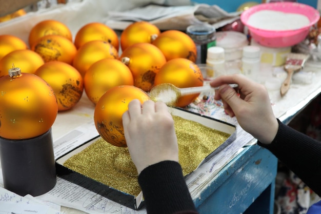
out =
[[(173, 115), (178, 141), (179, 163), (186, 176), (196, 169), (230, 134), (217, 131)], [(83, 151), (69, 158), (64, 166), (114, 189), (137, 196), (141, 191), (137, 171), (127, 148), (96, 140)]]

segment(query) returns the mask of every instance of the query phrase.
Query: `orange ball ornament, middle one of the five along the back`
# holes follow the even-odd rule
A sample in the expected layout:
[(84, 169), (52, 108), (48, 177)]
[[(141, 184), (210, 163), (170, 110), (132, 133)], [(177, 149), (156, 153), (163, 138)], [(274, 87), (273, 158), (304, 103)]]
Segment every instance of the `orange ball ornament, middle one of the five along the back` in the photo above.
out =
[(101, 40), (112, 44), (118, 51), (119, 41), (116, 32), (102, 23), (89, 23), (78, 30), (74, 44), (80, 48), (87, 42)]

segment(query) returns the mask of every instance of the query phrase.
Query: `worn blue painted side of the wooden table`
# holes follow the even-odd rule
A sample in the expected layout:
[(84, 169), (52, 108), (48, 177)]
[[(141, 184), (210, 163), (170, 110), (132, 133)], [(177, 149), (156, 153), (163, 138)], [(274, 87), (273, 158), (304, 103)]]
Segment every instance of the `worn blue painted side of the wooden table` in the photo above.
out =
[(202, 189), (195, 206), (202, 214), (243, 213), (265, 192), (256, 207), (272, 214), (276, 172), (277, 158), (269, 150), (246, 146)]

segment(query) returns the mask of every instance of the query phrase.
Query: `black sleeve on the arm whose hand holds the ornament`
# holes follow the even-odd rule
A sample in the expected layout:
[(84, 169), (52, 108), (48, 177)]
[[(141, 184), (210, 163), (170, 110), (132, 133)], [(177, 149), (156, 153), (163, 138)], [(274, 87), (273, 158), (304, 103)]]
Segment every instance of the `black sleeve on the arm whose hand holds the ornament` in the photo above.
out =
[(153, 164), (139, 174), (138, 183), (148, 214), (197, 213), (179, 163)]

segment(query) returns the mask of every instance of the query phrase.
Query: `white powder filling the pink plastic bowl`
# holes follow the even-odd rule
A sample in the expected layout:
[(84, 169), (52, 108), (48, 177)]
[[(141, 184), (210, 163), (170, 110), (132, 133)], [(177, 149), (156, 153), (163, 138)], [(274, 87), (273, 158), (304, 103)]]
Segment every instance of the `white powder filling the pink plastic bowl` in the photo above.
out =
[(248, 25), (262, 30), (295, 30), (309, 23), (309, 18), (305, 15), (274, 10), (260, 10), (248, 20)]

